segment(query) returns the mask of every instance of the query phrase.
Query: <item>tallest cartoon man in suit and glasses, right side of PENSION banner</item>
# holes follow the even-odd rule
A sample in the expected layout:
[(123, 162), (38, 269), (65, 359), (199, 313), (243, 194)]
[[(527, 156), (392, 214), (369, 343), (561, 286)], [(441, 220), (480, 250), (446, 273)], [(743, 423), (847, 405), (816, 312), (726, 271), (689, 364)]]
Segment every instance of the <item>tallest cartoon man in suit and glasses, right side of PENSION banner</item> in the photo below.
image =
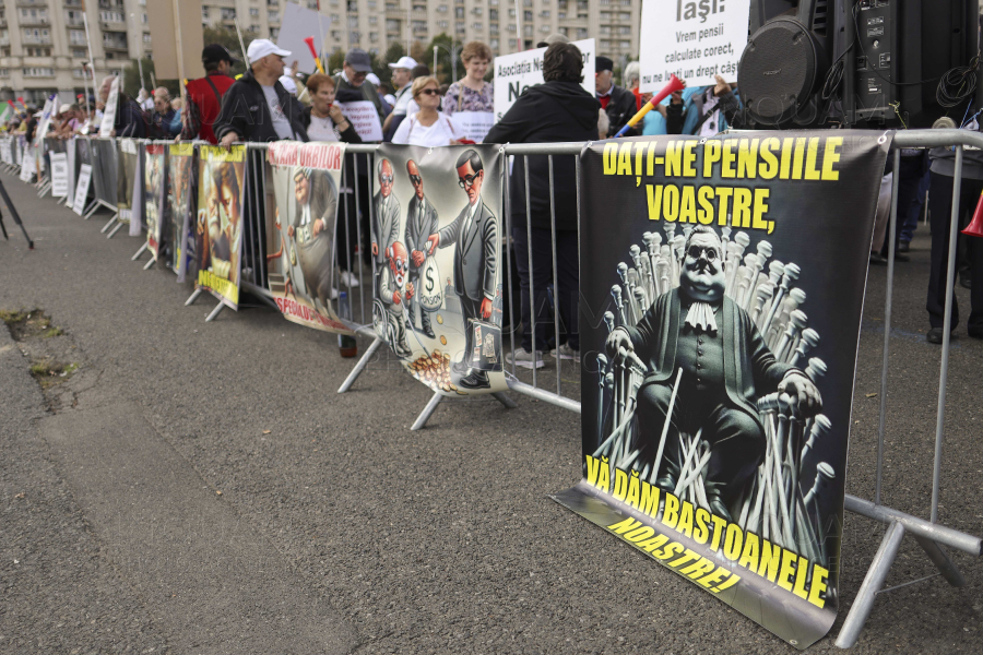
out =
[(463, 389), (487, 389), (488, 374), (469, 365), (474, 352), (474, 329), (471, 321), (492, 319), (492, 303), (497, 288), (498, 221), (482, 201), (485, 170), (474, 150), (465, 151), (457, 163), (458, 184), (467, 194), (467, 204), (453, 223), (427, 239), (428, 254), (437, 248), (454, 249), (454, 294), (461, 300), (464, 318), (464, 357), (451, 368), (464, 377), (458, 382)]

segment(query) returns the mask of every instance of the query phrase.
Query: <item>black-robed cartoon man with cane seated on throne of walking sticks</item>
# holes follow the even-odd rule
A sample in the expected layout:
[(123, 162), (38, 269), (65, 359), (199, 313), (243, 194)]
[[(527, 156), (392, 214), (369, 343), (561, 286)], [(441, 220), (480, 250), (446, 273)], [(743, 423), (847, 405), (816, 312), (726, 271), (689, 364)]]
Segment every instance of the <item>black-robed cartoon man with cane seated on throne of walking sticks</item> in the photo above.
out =
[(630, 445), (631, 452), (639, 451), (639, 469), (654, 464), (673, 385), (683, 370), (656, 486), (673, 491), (684, 456), (680, 433), (701, 430), (700, 438), (710, 444), (707, 500), (714, 514), (730, 519), (727, 504), (739, 497), (765, 456), (757, 400), (781, 390), (798, 398), (808, 415), (819, 412), (821, 398), (812, 380), (779, 361), (748, 313), (723, 295), (721, 254), (712, 229), (694, 228), (679, 287), (656, 298), (635, 326), (615, 329), (607, 349), (612, 356), (621, 347), (633, 350), (646, 365)]

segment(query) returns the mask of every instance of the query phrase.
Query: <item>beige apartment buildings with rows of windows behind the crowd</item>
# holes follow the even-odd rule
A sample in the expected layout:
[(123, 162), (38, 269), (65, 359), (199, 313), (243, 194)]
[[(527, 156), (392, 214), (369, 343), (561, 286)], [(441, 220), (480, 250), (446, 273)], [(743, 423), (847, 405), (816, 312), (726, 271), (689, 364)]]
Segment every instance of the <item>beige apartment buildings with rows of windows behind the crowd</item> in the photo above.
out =
[[(147, 0), (3, 0), (0, 3), (0, 102), (23, 97), (42, 104), (51, 93), (71, 102), (82, 93), (90, 58), (95, 78), (120, 73), (152, 56)], [(310, 9), (318, 0), (299, 0)], [(482, 40), (496, 55), (535, 46), (546, 35), (597, 39), (597, 51), (617, 60), (638, 53), (641, 0), (321, 0), (331, 16), (327, 50), (359, 47), (377, 53), (392, 41), (413, 49), (439, 34), (461, 43)], [(286, 0), (204, 0), (202, 25), (275, 39)], [(517, 14), (518, 10), (518, 14)], [(147, 80), (147, 84), (150, 81)]]

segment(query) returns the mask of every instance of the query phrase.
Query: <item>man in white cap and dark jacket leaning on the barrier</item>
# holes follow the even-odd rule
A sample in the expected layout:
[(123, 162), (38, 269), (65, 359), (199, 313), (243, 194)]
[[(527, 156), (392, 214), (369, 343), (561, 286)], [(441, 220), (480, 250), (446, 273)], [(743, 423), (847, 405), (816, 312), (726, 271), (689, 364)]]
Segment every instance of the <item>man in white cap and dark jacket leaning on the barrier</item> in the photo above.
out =
[(265, 38), (254, 39), (246, 49), (249, 70), (222, 98), (215, 135), (222, 145), (237, 141), (308, 141), (301, 122), (304, 107), (283, 87), (283, 59), (289, 50)]

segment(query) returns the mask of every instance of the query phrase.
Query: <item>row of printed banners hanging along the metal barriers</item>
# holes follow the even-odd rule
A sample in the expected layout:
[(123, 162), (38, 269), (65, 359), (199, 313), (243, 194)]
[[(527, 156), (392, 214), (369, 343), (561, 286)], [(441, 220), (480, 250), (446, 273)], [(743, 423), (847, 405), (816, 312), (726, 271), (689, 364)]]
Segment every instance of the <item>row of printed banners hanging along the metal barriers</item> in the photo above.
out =
[[(554, 498), (798, 648), (839, 605), (888, 146), (865, 132), (747, 132), (580, 155), (583, 479)], [(265, 266), (287, 320), (351, 334), (335, 300), (344, 144), (273, 143), (254, 166), (244, 146), (76, 139), (76, 207), (114, 147), (117, 175), (137, 181), (118, 182), (118, 206), (142, 195), (131, 226), (179, 279), (236, 308), (244, 266)], [(499, 146), (383, 144), (371, 166), (376, 333), (439, 393), (508, 389)], [(263, 195), (253, 212), (247, 199)]]

